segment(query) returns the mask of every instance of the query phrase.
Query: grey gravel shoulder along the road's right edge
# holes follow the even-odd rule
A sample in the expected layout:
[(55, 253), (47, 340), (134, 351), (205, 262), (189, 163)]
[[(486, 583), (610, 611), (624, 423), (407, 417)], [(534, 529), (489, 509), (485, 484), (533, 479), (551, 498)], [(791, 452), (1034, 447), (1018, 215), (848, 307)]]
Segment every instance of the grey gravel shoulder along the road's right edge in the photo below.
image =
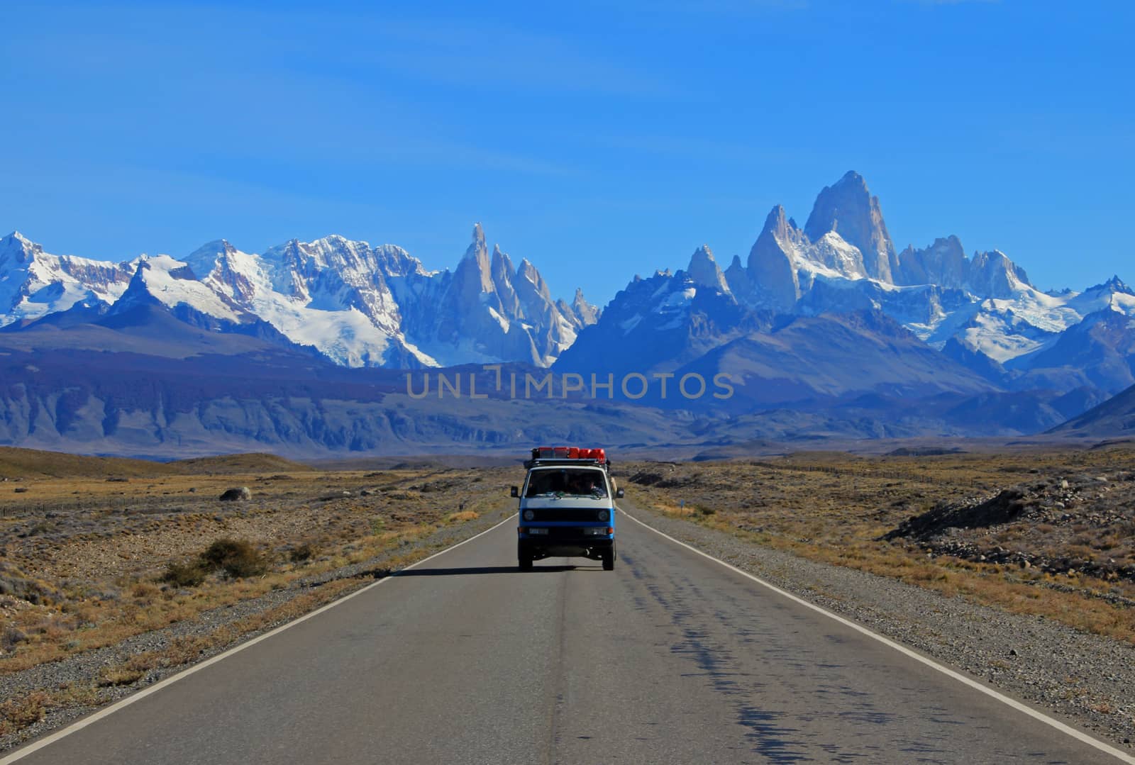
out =
[(1135, 646), (1129, 642), (760, 547), (631, 502), (623, 507), (675, 539), (1135, 754)]

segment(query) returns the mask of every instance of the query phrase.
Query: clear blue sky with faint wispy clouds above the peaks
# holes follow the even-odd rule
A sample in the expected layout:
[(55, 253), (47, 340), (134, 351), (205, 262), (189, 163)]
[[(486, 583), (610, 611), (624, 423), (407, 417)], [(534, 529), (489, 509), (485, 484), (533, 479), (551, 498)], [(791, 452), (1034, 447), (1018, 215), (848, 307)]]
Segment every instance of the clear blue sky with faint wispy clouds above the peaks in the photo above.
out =
[(330, 233), (453, 267), (474, 221), (605, 303), (747, 257), (844, 171), (896, 244), (1042, 288), (1132, 268), (1127, 2), (0, 7), (0, 228), (51, 252)]

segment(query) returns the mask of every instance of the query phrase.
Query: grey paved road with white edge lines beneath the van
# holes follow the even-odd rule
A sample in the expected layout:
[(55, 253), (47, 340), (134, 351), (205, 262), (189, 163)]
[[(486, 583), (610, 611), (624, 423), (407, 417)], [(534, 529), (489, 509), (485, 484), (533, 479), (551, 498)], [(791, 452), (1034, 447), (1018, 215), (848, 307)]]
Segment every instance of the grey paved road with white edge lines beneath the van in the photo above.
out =
[(622, 520), (515, 569), (513, 523), (20, 760), (1115, 763)]

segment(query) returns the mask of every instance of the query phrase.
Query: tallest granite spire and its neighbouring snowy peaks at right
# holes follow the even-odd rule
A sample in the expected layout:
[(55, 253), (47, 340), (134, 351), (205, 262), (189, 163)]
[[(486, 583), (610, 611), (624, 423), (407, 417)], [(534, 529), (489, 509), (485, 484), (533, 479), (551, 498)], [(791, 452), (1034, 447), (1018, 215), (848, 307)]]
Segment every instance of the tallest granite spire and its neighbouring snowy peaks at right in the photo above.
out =
[(967, 257), (957, 236), (897, 253), (878, 197), (854, 171), (821, 192), (802, 229), (773, 208), (748, 262), (734, 258), (724, 276), (749, 306), (813, 316), (878, 310), (933, 347), (953, 339), (1010, 367), (1090, 313), (1135, 314), (1118, 278), (1084, 293), (1044, 293), (1004, 253)]

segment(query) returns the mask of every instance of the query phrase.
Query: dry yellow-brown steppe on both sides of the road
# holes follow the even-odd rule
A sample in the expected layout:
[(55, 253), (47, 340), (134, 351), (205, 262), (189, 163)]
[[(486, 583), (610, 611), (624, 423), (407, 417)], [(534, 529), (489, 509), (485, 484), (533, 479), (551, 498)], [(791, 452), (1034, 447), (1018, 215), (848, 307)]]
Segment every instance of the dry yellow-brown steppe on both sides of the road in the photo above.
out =
[[(647, 521), (1135, 648), (1133, 456), (796, 453), (617, 462), (615, 477)], [(523, 478), (519, 461), (372, 468), (0, 449), (0, 746), (488, 528)], [(1051, 681), (1112, 738), (1135, 730), (1121, 698)]]

